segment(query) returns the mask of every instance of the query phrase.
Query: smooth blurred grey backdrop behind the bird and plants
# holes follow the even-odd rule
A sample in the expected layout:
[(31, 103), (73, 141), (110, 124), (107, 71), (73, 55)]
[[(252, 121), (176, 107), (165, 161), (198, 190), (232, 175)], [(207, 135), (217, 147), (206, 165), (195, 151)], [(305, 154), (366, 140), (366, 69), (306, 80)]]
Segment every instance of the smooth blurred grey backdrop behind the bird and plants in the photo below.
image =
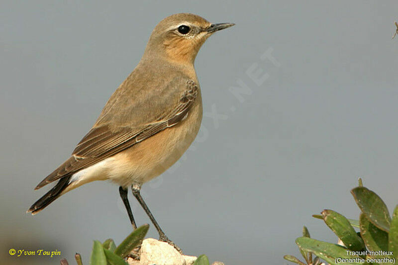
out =
[[(45, 192), (35, 185), (69, 157), (134, 69), (154, 26), (178, 12), (236, 23), (211, 36), (196, 60), (205, 112), (197, 141), (142, 189), (187, 255), (287, 264), (283, 255), (299, 255), (302, 225), (335, 241), (312, 214), (358, 218), (349, 192), (358, 177), (391, 210), (398, 201), (397, 1), (0, 5), (1, 260), (11, 247), (57, 249), (70, 264), (75, 252), (88, 264), (93, 240), (118, 244), (130, 233), (117, 185), (108, 182), (71, 191), (34, 217), (25, 211)], [(276, 61), (261, 59), (267, 51)], [(248, 69), (268, 78), (256, 84)], [(243, 102), (230, 92), (238, 82), (251, 91)], [(149, 223), (130, 202), (137, 223)], [(148, 236), (157, 237), (153, 226)]]

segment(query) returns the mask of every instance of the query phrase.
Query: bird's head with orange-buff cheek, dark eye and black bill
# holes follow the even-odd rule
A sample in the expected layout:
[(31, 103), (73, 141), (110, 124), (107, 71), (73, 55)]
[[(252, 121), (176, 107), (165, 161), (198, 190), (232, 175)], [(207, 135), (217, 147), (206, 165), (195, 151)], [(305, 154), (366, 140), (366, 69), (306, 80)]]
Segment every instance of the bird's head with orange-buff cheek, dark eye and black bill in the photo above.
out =
[(168, 16), (152, 31), (144, 56), (162, 56), (179, 64), (193, 64), (200, 46), (211, 34), (233, 25), (212, 24), (191, 13)]

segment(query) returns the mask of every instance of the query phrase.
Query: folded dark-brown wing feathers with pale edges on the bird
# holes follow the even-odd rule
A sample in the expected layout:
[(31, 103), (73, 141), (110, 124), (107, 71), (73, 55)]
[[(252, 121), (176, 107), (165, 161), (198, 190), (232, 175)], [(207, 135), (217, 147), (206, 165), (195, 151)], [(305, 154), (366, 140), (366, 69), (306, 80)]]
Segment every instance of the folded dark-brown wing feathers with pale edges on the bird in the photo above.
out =
[(198, 86), (193, 81), (187, 82), (187, 88), (179, 103), (169, 113), (163, 114), (158, 120), (139, 128), (121, 127), (112, 130), (109, 125), (94, 127), (79, 142), (72, 157), (65, 161), (53, 173), (44, 178), (35, 189), (90, 167), (101, 160), (123, 151), (152, 135), (172, 127), (184, 120), (198, 94)]

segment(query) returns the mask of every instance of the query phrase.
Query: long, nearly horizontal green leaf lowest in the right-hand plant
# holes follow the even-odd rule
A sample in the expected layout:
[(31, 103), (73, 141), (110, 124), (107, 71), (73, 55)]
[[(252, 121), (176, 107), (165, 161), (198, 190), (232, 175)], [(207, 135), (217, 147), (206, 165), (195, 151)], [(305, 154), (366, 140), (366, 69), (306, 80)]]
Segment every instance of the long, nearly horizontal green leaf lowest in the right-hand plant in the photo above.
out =
[[(296, 244), (298, 247), (304, 251), (312, 252), (319, 258), (325, 260), (331, 265), (341, 264), (337, 261), (337, 258), (350, 259), (344, 262), (347, 265), (362, 265), (360, 262), (361, 258), (355, 255), (348, 255), (347, 249), (336, 244), (326, 243), (318, 241), (312, 238), (299, 237), (296, 239)], [(358, 260), (355, 260), (358, 259)]]

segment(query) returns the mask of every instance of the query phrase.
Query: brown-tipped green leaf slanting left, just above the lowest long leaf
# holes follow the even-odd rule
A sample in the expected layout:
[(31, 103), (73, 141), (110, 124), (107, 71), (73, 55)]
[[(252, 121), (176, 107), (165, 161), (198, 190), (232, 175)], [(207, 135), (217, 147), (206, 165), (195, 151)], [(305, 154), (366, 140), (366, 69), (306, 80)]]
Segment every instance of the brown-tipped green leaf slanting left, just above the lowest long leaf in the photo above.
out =
[(347, 249), (352, 251), (365, 249), (364, 242), (352, 228), (347, 218), (332, 210), (323, 210), (322, 216), (326, 225), (341, 239)]

